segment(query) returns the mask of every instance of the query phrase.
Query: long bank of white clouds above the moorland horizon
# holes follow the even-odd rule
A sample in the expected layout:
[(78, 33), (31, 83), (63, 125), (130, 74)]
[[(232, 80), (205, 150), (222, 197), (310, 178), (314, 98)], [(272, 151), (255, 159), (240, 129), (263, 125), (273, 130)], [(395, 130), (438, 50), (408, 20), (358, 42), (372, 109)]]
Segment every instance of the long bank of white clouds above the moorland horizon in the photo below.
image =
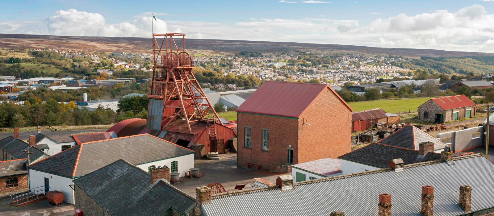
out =
[[(165, 16), (165, 15), (162, 15)], [(62, 36), (151, 36), (151, 17), (111, 24), (99, 13), (60, 10), (37, 21), (0, 20), (0, 33)], [(169, 17), (168, 17), (169, 18)], [(305, 19), (247, 18), (243, 22), (154, 21), (155, 33), (182, 32), (189, 38), (287, 41), (396, 48), (494, 52), (494, 14), (474, 4), (456, 11), (397, 14), (362, 25), (314, 15)]]

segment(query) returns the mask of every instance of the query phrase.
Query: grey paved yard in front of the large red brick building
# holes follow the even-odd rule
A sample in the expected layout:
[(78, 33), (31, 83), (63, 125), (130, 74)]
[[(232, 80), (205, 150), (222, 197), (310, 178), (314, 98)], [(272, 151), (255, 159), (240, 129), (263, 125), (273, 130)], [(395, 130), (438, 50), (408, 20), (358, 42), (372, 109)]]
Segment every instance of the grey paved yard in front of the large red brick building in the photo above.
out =
[(196, 160), (195, 167), (200, 168), (201, 172), (204, 171), (205, 176), (200, 179), (184, 178), (183, 182), (177, 182), (174, 186), (192, 197), (196, 197), (196, 187), (206, 186), (209, 183), (221, 183), (226, 191), (232, 191), (237, 184), (247, 184), (246, 188), (250, 187), (250, 183), (255, 181), (254, 178), (262, 178), (276, 183), (278, 176), (287, 175), (265, 170), (237, 168), (236, 153), (220, 154), (219, 157), (219, 160)]

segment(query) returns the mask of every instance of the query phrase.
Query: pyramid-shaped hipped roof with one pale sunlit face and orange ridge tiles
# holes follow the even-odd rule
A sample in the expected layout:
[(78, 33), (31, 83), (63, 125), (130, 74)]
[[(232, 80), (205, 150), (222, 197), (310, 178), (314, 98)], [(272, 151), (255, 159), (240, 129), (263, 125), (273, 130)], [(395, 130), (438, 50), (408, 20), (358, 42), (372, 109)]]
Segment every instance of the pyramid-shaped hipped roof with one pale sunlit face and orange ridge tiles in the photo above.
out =
[(401, 128), (377, 143), (418, 150), (418, 144), (423, 142), (434, 143), (434, 150), (448, 146), (412, 125)]

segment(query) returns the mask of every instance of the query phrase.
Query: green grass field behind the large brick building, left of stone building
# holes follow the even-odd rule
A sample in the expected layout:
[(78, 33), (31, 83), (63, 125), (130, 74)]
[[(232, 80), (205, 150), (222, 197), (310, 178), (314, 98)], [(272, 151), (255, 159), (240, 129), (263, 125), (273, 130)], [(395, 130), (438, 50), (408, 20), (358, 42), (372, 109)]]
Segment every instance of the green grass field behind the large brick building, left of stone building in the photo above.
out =
[(381, 108), (386, 112), (398, 113), (403, 111), (416, 111), (418, 106), (422, 105), (431, 98), (412, 98), (412, 99), (395, 99), (395, 100), (379, 100), (379, 101), (363, 101), (348, 103), (353, 108), (354, 112)]

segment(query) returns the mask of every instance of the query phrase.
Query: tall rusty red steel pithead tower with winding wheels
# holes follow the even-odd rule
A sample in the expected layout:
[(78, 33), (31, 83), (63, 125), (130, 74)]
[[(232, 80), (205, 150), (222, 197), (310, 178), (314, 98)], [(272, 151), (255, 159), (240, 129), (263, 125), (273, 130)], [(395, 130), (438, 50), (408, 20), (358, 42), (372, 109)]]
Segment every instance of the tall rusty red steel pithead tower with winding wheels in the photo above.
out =
[(146, 128), (161, 131), (182, 118), (192, 133), (190, 123), (202, 120), (208, 122), (213, 140), (214, 124), (223, 123), (192, 73), (196, 67), (194, 56), (185, 52), (185, 34), (153, 34), (153, 61)]

